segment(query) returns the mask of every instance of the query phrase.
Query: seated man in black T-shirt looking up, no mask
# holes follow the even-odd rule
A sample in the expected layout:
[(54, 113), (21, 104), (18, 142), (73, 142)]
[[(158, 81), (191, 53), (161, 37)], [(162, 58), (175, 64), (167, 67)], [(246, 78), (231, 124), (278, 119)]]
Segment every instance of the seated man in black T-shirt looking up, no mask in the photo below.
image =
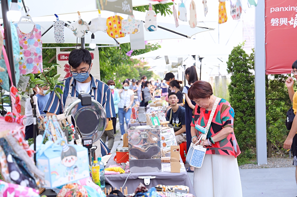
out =
[(173, 127), (180, 127), (179, 130), (175, 129), (177, 131), (174, 133), (177, 145), (180, 145), (182, 142), (186, 141), (186, 110), (184, 107), (181, 107), (177, 104), (178, 98), (174, 92), (168, 94), (168, 102), (171, 105), (171, 109), (169, 109), (167, 112), (166, 120), (169, 121)]

